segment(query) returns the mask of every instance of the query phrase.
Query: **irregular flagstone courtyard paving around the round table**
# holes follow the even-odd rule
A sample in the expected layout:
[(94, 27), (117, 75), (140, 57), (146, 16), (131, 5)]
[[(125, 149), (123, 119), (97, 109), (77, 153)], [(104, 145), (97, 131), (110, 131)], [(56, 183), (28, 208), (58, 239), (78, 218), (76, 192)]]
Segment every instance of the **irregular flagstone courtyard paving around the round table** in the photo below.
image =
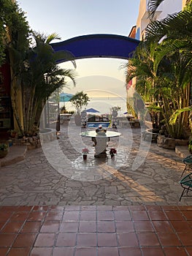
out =
[[(174, 151), (143, 142), (140, 129), (121, 129), (109, 148), (115, 159), (94, 159), (90, 138), (62, 126), (60, 139), (28, 151), (26, 159), (0, 169), (1, 206), (191, 205), (183, 197), (184, 165)], [(81, 150), (90, 149), (83, 161)], [(46, 157), (45, 157), (46, 156)]]

